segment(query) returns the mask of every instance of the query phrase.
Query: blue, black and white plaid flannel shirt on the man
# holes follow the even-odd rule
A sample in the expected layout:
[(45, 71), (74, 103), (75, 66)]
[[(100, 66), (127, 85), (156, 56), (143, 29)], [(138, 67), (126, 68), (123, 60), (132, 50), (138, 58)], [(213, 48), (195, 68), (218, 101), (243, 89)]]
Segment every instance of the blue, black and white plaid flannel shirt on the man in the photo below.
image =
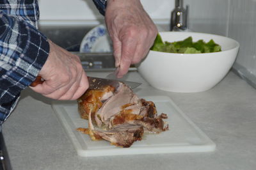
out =
[[(106, 0), (93, 0), (104, 14)], [(0, 0), (0, 125), (40, 72), (49, 55), (47, 38), (36, 29), (36, 0)]]

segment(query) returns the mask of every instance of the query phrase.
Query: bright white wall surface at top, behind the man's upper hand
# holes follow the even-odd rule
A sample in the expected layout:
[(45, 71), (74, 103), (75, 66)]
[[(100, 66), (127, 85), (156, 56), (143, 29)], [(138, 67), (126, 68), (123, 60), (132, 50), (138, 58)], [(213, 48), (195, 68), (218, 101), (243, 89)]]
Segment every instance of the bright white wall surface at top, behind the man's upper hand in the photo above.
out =
[[(145, 10), (156, 23), (170, 22), (174, 0), (141, 0)], [(92, 0), (39, 0), (40, 25), (99, 24), (103, 17)]]

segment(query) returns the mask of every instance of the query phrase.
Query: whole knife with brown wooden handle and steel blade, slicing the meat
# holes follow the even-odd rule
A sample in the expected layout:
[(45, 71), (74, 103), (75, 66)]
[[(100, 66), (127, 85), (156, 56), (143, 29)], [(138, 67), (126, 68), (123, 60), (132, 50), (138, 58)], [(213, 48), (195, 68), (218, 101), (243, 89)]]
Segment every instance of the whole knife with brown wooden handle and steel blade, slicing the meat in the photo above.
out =
[[(104, 79), (104, 78), (99, 78), (99, 77), (88, 77), (88, 81), (89, 81), (89, 88), (90, 89), (100, 89), (104, 86), (113, 86), (114, 88), (118, 88), (119, 86), (119, 82), (120, 81), (116, 81), (113, 79)], [(40, 75), (38, 75), (35, 79), (35, 81), (33, 81), (30, 86), (35, 87), (38, 84), (42, 84), (44, 82), (44, 79), (42, 79), (42, 77)], [(122, 81), (124, 82), (124, 84), (126, 84), (127, 86), (129, 86), (131, 89), (137, 88), (138, 86), (141, 85), (140, 82), (131, 82), (131, 81)]]

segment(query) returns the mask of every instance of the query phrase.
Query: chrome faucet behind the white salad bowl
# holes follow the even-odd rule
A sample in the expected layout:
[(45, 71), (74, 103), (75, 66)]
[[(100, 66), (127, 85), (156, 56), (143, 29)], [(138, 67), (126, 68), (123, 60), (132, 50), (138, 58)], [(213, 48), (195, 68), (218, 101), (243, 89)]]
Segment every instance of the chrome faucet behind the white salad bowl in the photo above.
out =
[(188, 29), (188, 10), (188, 5), (186, 5), (186, 10), (183, 8), (183, 0), (175, 0), (175, 8), (171, 16), (171, 31), (186, 31)]

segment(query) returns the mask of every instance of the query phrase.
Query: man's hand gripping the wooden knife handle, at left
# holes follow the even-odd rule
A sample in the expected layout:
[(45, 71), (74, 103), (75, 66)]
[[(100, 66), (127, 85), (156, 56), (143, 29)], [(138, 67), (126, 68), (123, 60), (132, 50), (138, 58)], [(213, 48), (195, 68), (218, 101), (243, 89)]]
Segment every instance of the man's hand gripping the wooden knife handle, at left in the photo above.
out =
[(76, 100), (88, 89), (88, 79), (78, 56), (49, 40), (50, 52), (39, 75), (45, 80), (34, 91), (58, 100)]

